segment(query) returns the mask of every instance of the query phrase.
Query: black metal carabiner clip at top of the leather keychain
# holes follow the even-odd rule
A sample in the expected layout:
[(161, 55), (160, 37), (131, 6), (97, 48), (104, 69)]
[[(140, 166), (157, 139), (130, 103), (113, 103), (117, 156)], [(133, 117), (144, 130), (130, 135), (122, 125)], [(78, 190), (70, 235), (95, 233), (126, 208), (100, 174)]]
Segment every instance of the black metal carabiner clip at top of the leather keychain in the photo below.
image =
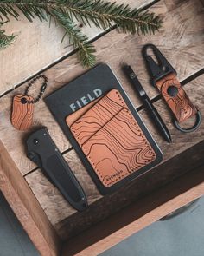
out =
[[(152, 49), (158, 63), (156, 63), (153, 58), (148, 55), (148, 49)], [(177, 75), (175, 69), (154, 44), (150, 43), (144, 45), (142, 53), (143, 58), (146, 61), (147, 68), (150, 72), (150, 77), (152, 77), (151, 81), (154, 85), (156, 84), (156, 81), (160, 80), (165, 75), (169, 75), (169, 73), (175, 73), (175, 75)]]

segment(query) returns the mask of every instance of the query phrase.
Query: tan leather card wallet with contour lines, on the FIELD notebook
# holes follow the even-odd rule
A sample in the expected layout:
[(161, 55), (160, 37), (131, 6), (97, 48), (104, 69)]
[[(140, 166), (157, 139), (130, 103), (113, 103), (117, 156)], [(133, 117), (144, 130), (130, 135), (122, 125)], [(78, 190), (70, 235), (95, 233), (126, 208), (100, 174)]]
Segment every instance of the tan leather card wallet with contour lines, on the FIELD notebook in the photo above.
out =
[(156, 159), (155, 151), (116, 89), (70, 128), (105, 187)]

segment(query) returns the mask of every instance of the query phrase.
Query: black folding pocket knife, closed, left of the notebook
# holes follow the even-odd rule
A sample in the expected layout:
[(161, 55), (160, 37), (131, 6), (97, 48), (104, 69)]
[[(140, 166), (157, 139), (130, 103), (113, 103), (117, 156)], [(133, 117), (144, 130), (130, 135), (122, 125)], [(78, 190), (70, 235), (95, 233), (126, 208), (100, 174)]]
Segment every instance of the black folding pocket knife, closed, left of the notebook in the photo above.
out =
[(48, 129), (41, 128), (30, 135), (27, 148), (28, 158), (41, 168), (65, 199), (78, 211), (86, 209), (86, 194), (48, 134)]

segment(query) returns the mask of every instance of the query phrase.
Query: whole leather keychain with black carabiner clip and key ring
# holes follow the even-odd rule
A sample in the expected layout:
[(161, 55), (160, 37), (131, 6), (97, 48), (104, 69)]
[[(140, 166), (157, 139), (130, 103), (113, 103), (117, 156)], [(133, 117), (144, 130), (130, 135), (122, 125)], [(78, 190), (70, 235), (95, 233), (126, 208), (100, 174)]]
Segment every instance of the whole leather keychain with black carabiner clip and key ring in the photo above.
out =
[[(157, 63), (148, 55), (148, 49), (152, 49)], [(163, 99), (169, 105), (169, 108), (175, 115), (175, 128), (184, 133), (196, 130), (201, 124), (201, 113), (188, 98), (188, 95), (182, 88), (181, 83), (176, 77), (175, 69), (170, 65), (163, 54), (154, 44), (146, 44), (143, 47), (143, 58), (147, 64), (152, 77), (152, 83), (159, 89)], [(191, 128), (182, 128), (180, 123), (196, 115), (196, 121)]]

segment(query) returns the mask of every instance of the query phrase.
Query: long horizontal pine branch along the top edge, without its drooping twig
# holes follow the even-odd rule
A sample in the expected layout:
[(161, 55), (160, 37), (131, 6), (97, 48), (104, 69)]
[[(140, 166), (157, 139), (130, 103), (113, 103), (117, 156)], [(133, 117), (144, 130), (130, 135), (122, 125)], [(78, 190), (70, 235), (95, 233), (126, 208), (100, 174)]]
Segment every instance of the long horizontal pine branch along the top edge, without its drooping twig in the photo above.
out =
[(0, 2), (0, 18), (9, 19), (8, 14), (16, 19), (19, 14), (14, 7), (32, 21), (35, 16), (47, 20), (50, 10), (67, 12), (69, 18), (80, 20), (85, 25), (90, 21), (101, 29), (108, 29), (116, 23), (118, 30), (135, 34), (155, 33), (161, 27), (160, 16), (142, 9), (132, 9), (129, 5), (109, 3), (103, 0), (3, 0)]

